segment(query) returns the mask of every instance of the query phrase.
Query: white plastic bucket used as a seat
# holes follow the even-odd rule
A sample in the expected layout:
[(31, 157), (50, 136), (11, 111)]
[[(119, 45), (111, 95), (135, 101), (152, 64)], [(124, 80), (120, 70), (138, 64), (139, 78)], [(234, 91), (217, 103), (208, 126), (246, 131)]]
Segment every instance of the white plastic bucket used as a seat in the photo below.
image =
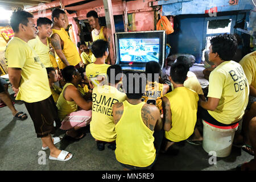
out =
[(210, 126), (203, 120), (204, 130), (203, 130), (203, 148), (204, 150), (211, 155), (225, 158), (229, 156), (235, 131), (238, 129), (238, 126), (233, 129), (219, 129), (217, 127)]

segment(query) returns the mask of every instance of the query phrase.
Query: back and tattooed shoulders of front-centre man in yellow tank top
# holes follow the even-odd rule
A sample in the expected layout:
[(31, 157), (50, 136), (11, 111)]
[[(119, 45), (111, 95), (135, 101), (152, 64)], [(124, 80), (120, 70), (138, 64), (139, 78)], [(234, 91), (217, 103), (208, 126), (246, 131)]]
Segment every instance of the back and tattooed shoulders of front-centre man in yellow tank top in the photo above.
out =
[(114, 107), (117, 160), (131, 166), (150, 166), (156, 156), (153, 134), (160, 118), (158, 108), (145, 102), (130, 104), (128, 101)]

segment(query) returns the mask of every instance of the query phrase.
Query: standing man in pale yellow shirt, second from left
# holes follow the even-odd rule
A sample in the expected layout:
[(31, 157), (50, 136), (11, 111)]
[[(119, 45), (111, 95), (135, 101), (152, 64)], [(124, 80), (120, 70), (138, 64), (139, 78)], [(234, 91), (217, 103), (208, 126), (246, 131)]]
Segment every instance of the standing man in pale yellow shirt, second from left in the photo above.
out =
[[(51, 68), (53, 65), (49, 56), (49, 42), (47, 38), (52, 34), (52, 21), (48, 18), (38, 18), (38, 20), (36, 20), (36, 26), (38, 27), (38, 35), (36, 35), (35, 39), (32, 39), (27, 43), (35, 50), (44, 66), (46, 68)], [(59, 67), (56, 67), (57, 63), (54, 65), (55, 69), (57, 69), (56, 74), (59, 77)]]

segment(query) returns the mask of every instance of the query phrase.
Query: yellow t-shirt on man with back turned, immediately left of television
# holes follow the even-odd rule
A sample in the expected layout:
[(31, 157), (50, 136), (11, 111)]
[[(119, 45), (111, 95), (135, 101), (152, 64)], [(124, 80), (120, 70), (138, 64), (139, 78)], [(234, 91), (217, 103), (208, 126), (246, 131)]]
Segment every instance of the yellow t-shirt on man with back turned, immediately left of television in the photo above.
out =
[(106, 71), (110, 67), (109, 64), (88, 64), (86, 66), (86, 77), (92, 81), (92, 84), (94, 86), (97, 86), (100, 84), (100, 82), (97, 80), (98, 76), (104, 76), (105, 80), (107, 78)]

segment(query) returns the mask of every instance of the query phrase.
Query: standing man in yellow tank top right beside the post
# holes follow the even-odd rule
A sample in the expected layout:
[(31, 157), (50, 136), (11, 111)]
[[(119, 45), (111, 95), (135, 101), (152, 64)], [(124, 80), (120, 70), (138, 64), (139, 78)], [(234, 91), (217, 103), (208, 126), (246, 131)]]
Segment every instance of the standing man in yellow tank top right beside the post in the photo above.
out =
[[(93, 30), (92, 30), (93, 42), (98, 39), (102, 39), (102, 40), (105, 40), (106, 42), (109, 42), (107, 29), (104, 26), (100, 26), (100, 23), (98, 22), (97, 12), (93, 11), (93, 10), (89, 11), (86, 14), (86, 17), (88, 18), (90, 27), (93, 28)], [(109, 49), (110, 49), (110, 47), (109, 47)], [(105, 60), (105, 63), (110, 64), (110, 56), (108, 56), (108, 58)]]

